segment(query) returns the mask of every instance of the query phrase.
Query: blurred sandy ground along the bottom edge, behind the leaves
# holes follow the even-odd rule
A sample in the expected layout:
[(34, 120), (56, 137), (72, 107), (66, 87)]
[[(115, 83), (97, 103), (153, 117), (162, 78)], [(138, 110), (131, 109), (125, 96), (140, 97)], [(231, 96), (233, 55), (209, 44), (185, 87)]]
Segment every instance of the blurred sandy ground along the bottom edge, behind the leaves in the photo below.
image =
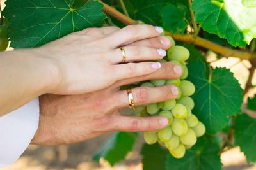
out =
[[(138, 153), (142, 139), (138, 139), (134, 151), (127, 159), (114, 167), (100, 160), (100, 164), (92, 162), (93, 152), (108, 136), (93, 139), (84, 143), (68, 146), (29, 146), (28, 150), (15, 164), (0, 168), (1, 170), (141, 170), (141, 157)], [(221, 155), (224, 170), (256, 170), (256, 166), (247, 164), (239, 148), (233, 148)], [(159, 169), (156, 169), (159, 170)], [(184, 169), (186, 170), (186, 169)]]

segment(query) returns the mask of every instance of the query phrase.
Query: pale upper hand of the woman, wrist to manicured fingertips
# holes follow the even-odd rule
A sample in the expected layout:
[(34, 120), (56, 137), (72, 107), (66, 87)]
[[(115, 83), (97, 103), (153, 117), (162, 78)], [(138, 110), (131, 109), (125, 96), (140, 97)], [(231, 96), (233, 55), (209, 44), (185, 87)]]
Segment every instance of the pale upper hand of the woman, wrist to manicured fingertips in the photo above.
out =
[[(89, 28), (74, 32), (48, 43), (37, 52), (54, 63), (58, 76), (48, 93), (82, 94), (109, 87), (118, 80), (154, 73), (161, 67), (157, 62), (170, 47), (170, 40), (160, 36), (161, 27), (129, 25)], [(122, 53), (126, 62), (120, 64)]]

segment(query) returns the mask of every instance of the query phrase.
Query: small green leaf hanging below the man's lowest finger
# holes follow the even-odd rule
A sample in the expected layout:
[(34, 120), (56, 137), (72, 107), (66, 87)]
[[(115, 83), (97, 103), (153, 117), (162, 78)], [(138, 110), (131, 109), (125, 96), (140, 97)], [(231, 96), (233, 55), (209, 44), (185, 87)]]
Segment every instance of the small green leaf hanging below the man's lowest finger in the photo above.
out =
[(138, 134), (129, 132), (115, 132), (111, 138), (102, 145), (93, 155), (93, 160), (99, 161), (101, 157), (108, 160), (113, 166), (125, 159), (136, 141)]

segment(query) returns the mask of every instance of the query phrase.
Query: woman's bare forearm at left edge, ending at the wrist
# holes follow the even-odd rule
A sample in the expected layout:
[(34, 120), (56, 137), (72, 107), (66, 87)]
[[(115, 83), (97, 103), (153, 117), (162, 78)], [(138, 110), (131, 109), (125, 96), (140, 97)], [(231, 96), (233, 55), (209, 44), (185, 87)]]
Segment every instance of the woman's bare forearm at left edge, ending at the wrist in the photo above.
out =
[(0, 53), (0, 116), (51, 92), (58, 70), (38, 50)]

